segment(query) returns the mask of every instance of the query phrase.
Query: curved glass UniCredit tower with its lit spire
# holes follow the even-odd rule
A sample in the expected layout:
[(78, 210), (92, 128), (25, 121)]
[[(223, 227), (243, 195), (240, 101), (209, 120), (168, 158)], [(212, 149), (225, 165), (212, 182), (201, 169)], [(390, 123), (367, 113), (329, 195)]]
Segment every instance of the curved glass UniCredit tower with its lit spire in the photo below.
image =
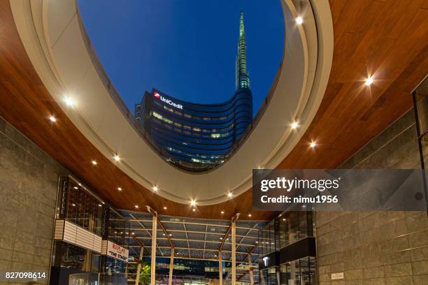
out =
[(203, 172), (223, 163), (252, 122), (243, 12), (234, 96), (223, 103), (197, 104), (152, 89), (145, 92), (141, 103), (136, 105), (135, 117), (148, 142), (173, 165)]

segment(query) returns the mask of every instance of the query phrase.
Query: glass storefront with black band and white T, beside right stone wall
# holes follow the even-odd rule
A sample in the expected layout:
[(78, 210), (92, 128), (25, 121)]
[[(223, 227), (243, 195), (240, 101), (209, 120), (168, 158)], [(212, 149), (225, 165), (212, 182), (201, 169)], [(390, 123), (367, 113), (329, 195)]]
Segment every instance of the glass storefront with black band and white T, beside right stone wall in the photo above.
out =
[(285, 212), (259, 231), (259, 284), (315, 285), (313, 212)]

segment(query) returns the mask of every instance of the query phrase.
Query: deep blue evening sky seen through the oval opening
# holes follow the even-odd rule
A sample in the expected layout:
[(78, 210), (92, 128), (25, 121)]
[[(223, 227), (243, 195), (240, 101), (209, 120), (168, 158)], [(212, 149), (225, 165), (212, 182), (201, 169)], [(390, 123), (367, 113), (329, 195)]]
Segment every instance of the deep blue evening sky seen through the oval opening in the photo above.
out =
[(131, 112), (145, 92), (221, 103), (235, 91), (239, 14), (259, 110), (283, 57), (280, 0), (79, 0), (83, 22)]

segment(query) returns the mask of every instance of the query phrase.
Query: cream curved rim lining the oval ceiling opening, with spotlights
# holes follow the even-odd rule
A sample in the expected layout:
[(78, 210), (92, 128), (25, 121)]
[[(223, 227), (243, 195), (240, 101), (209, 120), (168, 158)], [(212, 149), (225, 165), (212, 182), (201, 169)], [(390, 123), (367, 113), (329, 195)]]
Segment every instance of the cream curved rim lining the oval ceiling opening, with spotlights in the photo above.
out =
[[(213, 205), (228, 200), (229, 191), (237, 196), (250, 189), (252, 168), (275, 168), (304, 135), (322, 101), (333, 57), (329, 3), (317, 0), (301, 5), (298, 1), (299, 7), (295, 7), (294, 2), (281, 0), (284, 61), (264, 115), (231, 159), (199, 175), (185, 173), (161, 159), (117, 108), (85, 46), (75, 0), (14, 0), (10, 6), (43, 84), (104, 156), (144, 187), (156, 185), (157, 194), (164, 198)], [(295, 23), (297, 15), (304, 18), (304, 24)], [(76, 100), (75, 108), (63, 103), (65, 94)], [(297, 131), (290, 130), (294, 119), (301, 123)], [(120, 163), (113, 159), (116, 153), (122, 157)]]

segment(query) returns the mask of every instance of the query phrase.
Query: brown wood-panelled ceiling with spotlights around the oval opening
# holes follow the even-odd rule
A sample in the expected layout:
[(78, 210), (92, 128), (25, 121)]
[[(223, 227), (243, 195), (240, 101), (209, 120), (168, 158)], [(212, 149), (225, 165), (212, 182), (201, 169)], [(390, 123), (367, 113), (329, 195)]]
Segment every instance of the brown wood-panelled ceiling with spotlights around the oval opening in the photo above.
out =
[[(334, 58), (327, 92), (304, 138), (278, 168), (335, 168), (412, 107), (410, 92), (428, 71), (428, 1), (331, 0), (330, 6)], [(193, 212), (134, 182), (78, 131), (45, 89), (8, 0), (0, 1), (0, 36), (0, 115), (114, 207), (150, 205), (160, 214), (210, 219), (230, 219), (236, 212), (241, 219), (273, 216), (252, 210), (250, 190)], [(364, 86), (368, 76), (375, 80), (371, 87)], [(309, 149), (313, 140), (318, 145)]]

